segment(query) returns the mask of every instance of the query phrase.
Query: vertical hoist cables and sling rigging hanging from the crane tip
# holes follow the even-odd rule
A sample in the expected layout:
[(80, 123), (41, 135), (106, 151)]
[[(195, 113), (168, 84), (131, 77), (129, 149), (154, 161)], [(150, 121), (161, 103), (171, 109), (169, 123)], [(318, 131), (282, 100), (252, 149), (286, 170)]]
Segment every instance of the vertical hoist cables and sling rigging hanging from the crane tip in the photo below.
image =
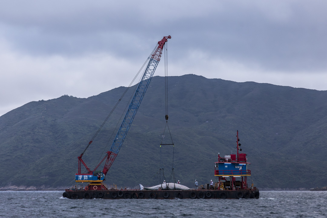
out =
[[(167, 45), (166, 44), (164, 45), (164, 48), (165, 48), (164, 49), (164, 60), (165, 60), (164, 61), (165, 62), (164, 70), (165, 70), (165, 113), (166, 113), (165, 114), (165, 120), (166, 120), (166, 125), (165, 125), (165, 128), (164, 128), (161, 143), (160, 143), (160, 163), (161, 163), (161, 169), (162, 169), (162, 172), (163, 172), (163, 178), (165, 180), (164, 171), (163, 171), (163, 158), (162, 158), (161, 145), (173, 145), (172, 171), (171, 171), (168, 183), (170, 182), (171, 178), (173, 177), (174, 189), (176, 189), (176, 187), (175, 187), (176, 180), (175, 180), (175, 173), (174, 173), (174, 149), (175, 149), (175, 146), (174, 146), (174, 142), (173, 142), (173, 139), (172, 139), (172, 136), (171, 136), (171, 133), (170, 133), (169, 126), (168, 126), (168, 52), (167, 52)], [(169, 131), (171, 144), (163, 144), (164, 133), (166, 131), (166, 128), (168, 128), (168, 131)], [(162, 184), (161, 181), (160, 181), (160, 183)], [(168, 187), (166, 187), (166, 188), (168, 188)]]

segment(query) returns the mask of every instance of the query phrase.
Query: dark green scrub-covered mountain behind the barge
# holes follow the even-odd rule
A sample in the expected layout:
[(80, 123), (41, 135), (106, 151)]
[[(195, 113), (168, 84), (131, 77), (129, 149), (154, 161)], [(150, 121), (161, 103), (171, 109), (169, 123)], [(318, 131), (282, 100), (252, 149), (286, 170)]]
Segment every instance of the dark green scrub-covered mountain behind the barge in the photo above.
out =
[[(0, 187), (75, 185), (77, 157), (125, 90), (34, 101), (1, 116)], [(129, 88), (84, 154), (91, 169), (110, 149), (134, 90)], [(236, 153), (238, 130), (251, 163), (249, 183), (283, 189), (326, 186), (327, 91), (183, 75), (168, 78), (168, 92), (175, 146), (159, 146), (165, 128), (164, 77), (154, 76), (107, 185), (157, 185), (161, 166), (169, 180), (173, 157), (176, 179), (183, 185), (193, 187), (194, 179), (208, 183), (215, 179), (218, 153)], [(164, 135), (169, 142), (167, 128)]]

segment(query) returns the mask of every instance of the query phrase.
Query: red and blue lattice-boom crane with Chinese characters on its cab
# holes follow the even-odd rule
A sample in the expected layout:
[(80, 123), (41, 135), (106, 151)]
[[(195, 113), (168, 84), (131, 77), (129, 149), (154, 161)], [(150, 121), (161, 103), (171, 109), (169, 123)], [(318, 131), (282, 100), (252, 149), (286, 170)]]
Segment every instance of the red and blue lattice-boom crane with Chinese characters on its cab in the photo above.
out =
[[(160, 61), (163, 46), (167, 42), (167, 39), (171, 39), (171, 36), (163, 37), (163, 39), (158, 42), (157, 48), (150, 55), (150, 60), (147, 63), (147, 66), (146, 66), (146, 69), (142, 76), (141, 82), (138, 84), (138, 87), (135, 91), (132, 101), (130, 102), (130, 105), (126, 112), (124, 120), (120, 125), (120, 128), (116, 134), (115, 139), (113, 140), (110, 150), (106, 152), (106, 156), (99, 162), (99, 164), (94, 168), (94, 170), (91, 170), (86, 165), (86, 163), (82, 159), (82, 156), (85, 153), (85, 151), (87, 150), (87, 148), (90, 146), (92, 141), (89, 142), (89, 144), (86, 146), (86, 148), (81, 153), (81, 155), (78, 156), (78, 173), (75, 174), (75, 181), (76, 182), (90, 182), (89, 185), (85, 187), (86, 190), (88, 190), (88, 189), (106, 190), (107, 189), (106, 185), (102, 182), (103, 182), (103, 180), (105, 180), (105, 176), (106, 176), (109, 168), (111, 167), (113, 161), (117, 157), (120, 147), (122, 146), (124, 139), (127, 135), (129, 127), (131, 126), (131, 124), (133, 122), (133, 119), (135, 117), (137, 109), (140, 107), (140, 104), (144, 97), (146, 89), (149, 86), (149, 83), (154, 74), (154, 71), (156, 70), (158, 63)], [(97, 170), (97, 168), (100, 166), (100, 164), (104, 160), (106, 160), (106, 161), (105, 161), (103, 170), (102, 171)], [(81, 165), (84, 165), (87, 173), (84, 173), (84, 174), (81, 173)]]

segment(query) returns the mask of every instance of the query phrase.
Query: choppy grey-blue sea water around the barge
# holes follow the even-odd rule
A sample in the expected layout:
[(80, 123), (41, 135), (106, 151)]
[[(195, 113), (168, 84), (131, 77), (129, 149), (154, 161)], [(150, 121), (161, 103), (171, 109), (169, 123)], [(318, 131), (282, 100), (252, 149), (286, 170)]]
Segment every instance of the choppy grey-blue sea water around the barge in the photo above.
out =
[(327, 192), (261, 191), (260, 199), (67, 199), (0, 191), (0, 217), (327, 217)]

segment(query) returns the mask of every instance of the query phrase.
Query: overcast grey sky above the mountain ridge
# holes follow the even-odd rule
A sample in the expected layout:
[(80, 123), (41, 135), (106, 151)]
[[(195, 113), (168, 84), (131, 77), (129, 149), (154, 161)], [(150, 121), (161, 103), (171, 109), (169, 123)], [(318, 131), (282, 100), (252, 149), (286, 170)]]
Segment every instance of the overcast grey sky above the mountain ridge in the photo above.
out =
[(327, 90), (326, 8), (325, 0), (0, 1), (0, 115), (128, 86), (168, 35), (168, 75)]

